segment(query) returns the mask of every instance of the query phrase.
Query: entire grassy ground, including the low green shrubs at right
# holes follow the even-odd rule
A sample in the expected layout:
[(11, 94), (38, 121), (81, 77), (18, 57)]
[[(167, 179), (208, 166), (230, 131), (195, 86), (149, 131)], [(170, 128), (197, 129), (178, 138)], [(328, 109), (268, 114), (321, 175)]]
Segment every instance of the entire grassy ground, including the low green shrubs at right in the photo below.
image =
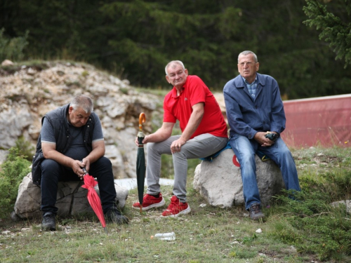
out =
[[(350, 215), (329, 202), (350, 197), (351, 148), (292, 152), (302, 201), (278, 196), (274, 205), (263, 208), (263, 221), (252, 222), (241, 207), (203, 207), (206, 201), (192, 189), (192, 163), (190, 214), (160, 218), (164, 208), (140, 214), (131, 208), (138, 200), (133, 189), (123, 211), (130, 224), (107, 224), (109, 234), (94, 215), (59, 218), (55, 232), (42, 232), (40, 220), (2, 220), (0, 262), (350, 262)], [(168, 204), (172, 189), (161, 190)], [(150, 238), (171, 231), (175, 241)]]

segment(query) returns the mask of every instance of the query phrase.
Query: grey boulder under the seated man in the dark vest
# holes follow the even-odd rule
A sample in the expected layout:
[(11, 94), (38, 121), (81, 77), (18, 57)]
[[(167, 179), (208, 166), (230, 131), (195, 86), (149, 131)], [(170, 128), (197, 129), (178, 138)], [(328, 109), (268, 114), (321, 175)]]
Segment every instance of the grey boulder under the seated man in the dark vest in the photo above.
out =
[[(88, 203), (86, 194), (87, 189), (81, 187), (83, 181), (59, 182), (56, 206), (58, 207), (58, 216), (67, 217), (69, 215), (78, 215), (79, 213), (94, 213), (91, 205)], [(126, 204), (128, 189), (119, 187), (114, 184), (117, 192), (117, 207), (122, 209)], [(99, 194), (98, 184), (95, 187)], [(25, 176), (18, 188), (18, 196), (15, 202), (15, 208), (11, 214), (13, 220), (40, 218), (41, 191), (37, 184), (32, 182), (32, 173)]]

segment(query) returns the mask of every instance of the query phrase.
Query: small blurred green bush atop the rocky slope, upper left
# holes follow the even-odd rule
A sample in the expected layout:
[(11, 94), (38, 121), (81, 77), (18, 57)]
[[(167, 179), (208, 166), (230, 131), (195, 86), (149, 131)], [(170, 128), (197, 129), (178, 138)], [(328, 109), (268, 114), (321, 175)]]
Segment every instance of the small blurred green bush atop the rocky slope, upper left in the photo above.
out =
[(23, 58), (23, 49), (27, 46), (27, 37), (29, 31), (25, 33), (25, 36), (18, 36), (12, 39), (4, 36), (5, 29), (0, 29), (0, 61), (13, 60), (19, 61)]

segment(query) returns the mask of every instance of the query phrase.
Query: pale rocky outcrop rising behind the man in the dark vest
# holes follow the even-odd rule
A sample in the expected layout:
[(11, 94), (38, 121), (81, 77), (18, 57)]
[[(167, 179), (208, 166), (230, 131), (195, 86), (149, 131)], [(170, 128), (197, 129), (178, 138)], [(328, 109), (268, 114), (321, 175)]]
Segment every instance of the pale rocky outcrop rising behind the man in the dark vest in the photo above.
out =
[(159, 114), (159, 97), (138, 93), (127, 80), (91, 65), (69, 62), (1, 67), (0, 87), (0, 163), (20, 136), (35, 146), (44, 114), (83, 93), (93, 98), (94, 111), (100, 116), (105, 156), (112, 161), (114, 177), (135, 177), (139, 114), (145, 112), (143, 129), (151, 132), (150, 120), (157, 121), (152, 116)]

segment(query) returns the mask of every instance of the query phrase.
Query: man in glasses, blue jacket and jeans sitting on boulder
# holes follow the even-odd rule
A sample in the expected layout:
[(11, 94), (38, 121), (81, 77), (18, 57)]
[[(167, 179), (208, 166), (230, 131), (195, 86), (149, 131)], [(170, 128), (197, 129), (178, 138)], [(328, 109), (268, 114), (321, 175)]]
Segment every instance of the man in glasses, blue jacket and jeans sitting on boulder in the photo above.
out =
[(252, 220), (264, 217), (256, 182), (257, 151), (277, 163), (286, 189), (300, 191), (293, 156), (279, 136), (286, 121), (279, 86), (272, 76), (258, 74), (259, 66), (255, 53), (241, 52), (238, 57), (240, 74), (223, 89), (230, 146), (240, 163), (245, 206)]

